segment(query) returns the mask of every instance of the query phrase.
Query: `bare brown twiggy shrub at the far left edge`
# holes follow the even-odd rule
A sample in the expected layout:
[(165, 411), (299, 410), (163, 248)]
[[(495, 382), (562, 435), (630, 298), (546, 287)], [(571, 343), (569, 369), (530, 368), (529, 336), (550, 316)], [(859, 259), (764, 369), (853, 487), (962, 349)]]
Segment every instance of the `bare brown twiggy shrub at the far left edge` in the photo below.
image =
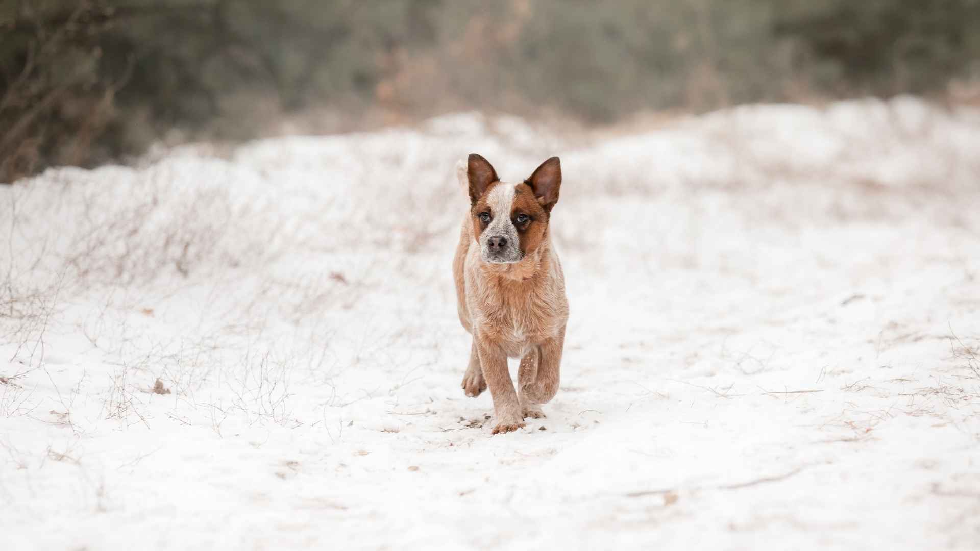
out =
[(104, 7), (0, 4), (0, 181), (88, 161), (112, 120), (118, 83), (100, 81)]

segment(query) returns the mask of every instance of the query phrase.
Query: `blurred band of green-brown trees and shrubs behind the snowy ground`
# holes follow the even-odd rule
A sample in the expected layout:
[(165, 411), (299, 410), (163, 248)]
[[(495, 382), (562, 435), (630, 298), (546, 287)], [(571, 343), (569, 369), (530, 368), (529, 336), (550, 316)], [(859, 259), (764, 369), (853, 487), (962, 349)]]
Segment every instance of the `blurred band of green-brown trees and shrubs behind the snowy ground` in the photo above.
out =
[(980, 0), (0, 0), (0, 181), (463, 110), (980, 101)]

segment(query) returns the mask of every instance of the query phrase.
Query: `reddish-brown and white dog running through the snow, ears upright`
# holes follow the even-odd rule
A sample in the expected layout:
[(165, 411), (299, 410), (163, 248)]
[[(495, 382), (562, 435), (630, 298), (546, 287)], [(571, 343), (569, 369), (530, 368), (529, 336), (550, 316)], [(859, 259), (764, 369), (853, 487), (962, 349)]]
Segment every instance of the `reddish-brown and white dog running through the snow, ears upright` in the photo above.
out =
[[(493, 433), (544, 417), (540, 404), (558, 392), (568, 300), (548, 222), (562, 186), (558, 157), (522, 182), (500, 181), (483, 157), (457, 167), (469, 194), (453, 259), (460, 322), (473, 335), (466, 396), (488, 386), (497, 425)], [(520, 358), (517, 390), (507, 359)]]

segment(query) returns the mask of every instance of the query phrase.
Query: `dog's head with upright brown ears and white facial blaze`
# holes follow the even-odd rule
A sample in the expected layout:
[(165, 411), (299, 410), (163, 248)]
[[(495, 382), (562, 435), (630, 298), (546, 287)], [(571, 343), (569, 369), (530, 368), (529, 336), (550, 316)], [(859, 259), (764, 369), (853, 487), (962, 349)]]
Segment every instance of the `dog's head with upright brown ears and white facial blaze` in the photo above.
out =
[(473, 235), (484, 262), (512, 264), (533, 253), (548, 230), (562, 186), (558, 157), (541, 164), (520, 183), (500, 181), (486, 159), (475, 153), (466, 165)]

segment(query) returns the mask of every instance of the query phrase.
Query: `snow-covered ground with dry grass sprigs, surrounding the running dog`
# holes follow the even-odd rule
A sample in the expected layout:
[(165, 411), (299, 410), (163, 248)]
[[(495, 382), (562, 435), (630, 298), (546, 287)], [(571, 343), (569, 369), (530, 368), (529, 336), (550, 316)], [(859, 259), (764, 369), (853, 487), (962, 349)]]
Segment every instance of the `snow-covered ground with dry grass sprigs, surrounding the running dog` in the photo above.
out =
[[(564, 169), (561, 391), (497, 436), (469, 152)], [(0, 548), (977, 549), (978, 215), (980, 112), (911, 98), (0, 186)]]

